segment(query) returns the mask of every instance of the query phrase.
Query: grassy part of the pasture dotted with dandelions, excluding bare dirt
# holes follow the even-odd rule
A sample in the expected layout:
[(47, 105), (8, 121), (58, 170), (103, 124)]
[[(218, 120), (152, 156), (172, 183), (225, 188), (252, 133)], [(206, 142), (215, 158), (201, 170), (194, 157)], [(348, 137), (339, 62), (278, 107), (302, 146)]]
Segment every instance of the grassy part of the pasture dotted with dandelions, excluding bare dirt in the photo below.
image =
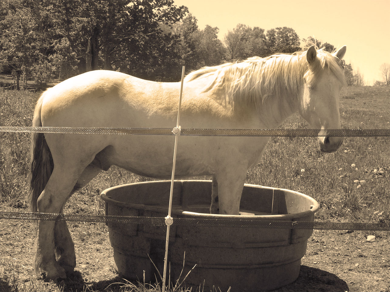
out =
[[(0, 126), (30, 126), (38, 98), (38, 93), (27, 91), (0, 92)], [(342, 127), (389, 129), (389, 109), (389, 87), (348, 87), (340, 98)], [(281, 127), (306, 128), (307, 124), (296, 114)], [(390, 137), (346, 137), (336, 153), (324, 154), (319, 151), (315, 137), (272, 137), (261, 162), (248, 171), (247, 182), (283, 187), (312, 196), (320, 204), (317, 220), (389, 222), (389, 145)], [(29, 147), (30, 134), (0, 132), (2, 210), (28, 207)], [(380, 169), (383, 169), (383, 173)], [(123, 183), (146, 180), (148, 179), (111, 167), (74, 194), (66, 204), (65, 213), (102, 215), (104, 205), (98, 196), (101, 191)], [(81, 223), (74, 223), (70, 228), (77, 228), (78, 224)], [(78, 242), (87, 242), (92, 235), (104, 238), (105, 228), (96, 224), (87, 230), (76, 230), (73, 237)], [(371, 234), (386, 236), (384, 232)], [(5, 264), (3, 274), (0, 275), (0, 290), (52, 290), (51, 284), (42, 281), (22, 283), (18, 275), (25, 268)], [(128, 285), (123, 289), (140, 291), (137, 289), (142, 288), (142, 285), (137, 285), (137, 288), (130, 287), (132, 284)], [(94, 289), (98, 288), (92, 288)]]

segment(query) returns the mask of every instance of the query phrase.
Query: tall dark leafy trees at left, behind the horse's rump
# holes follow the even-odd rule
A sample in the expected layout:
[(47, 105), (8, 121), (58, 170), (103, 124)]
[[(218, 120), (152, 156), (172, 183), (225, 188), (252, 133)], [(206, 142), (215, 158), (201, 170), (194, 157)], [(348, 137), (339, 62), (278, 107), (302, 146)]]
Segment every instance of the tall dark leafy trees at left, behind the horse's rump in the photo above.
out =
[(177, 37), (161, 25), (176, 23), (188, 10), (173, 0), (7, 0), (0, 5), (1, 67), (34, 74), (41, 84), (51, 76), (98, 68), (165, 78), (179, 58), (172, 50)]

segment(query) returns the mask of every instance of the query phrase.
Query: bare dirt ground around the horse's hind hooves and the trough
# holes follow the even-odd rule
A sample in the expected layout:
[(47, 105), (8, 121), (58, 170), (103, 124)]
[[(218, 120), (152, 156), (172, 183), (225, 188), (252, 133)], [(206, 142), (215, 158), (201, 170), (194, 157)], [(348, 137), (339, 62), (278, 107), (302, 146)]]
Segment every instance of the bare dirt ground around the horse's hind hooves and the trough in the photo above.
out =
[[(118, 291), (121, 281), (112, 267), (113, 251), (103, 224), (70, 223), (77, 266), (65, 282), (65, 291)], [(301, 261), (298, 279), (278, 291), (390, 292), (390, 234), (368, 231), (314, 230)], [(17, 277), (19, 290), (31, 290), (34, 228), (31, 222), (0, 221), (0, 290)], [(14, 278), (13, 280), (11, 278)], [(123, 282), (123, 281), (122, 281)], [(107, 288), (108, 287), (108, 288)]]

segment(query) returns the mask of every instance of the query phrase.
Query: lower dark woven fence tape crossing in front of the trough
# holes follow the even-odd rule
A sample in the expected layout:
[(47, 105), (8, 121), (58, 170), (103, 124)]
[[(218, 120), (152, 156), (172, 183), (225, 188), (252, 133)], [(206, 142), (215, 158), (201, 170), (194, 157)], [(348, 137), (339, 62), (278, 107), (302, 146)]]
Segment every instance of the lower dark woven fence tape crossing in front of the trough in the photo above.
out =
[[(218, 216), (217, 216), (218, 217)], [(73, 221), (86, 223), (123, 223), (149, 224), (165, 226), (163, 217), (105, 216), (105, 215), (68, 215), (34, 212), (0, 212), (0, 219)], [(174, 217), (173, 226), (235, 227), (235, 228), (281, 228), (281, 229), (317, 229), (317, 230), (368, 230), (390, 231), (390, 223), (349, 223), (320, 221), (279, 221), (249, 218), (181, 218)]]

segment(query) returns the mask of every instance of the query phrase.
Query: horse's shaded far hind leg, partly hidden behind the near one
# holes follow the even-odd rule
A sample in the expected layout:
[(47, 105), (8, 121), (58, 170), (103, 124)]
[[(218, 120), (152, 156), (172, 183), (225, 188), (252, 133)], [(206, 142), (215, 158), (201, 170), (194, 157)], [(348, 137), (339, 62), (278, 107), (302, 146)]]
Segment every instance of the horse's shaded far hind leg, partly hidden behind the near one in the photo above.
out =
[[(92, 164), (87, 166), (78, 178), (71, 193), (82, 189), (100, 171), (101, 169), (99, 167)], [(63, 211), (64, 205), (62, 205), (61, 213)], [(65, 221), (56, 221), (55, 223), (54, 246), (55, 256), (58, 264), (60, 264), (60, 266), (63, 267), (66, 273), (69, 275), (71, 272), (73, 272), (74, 267), (76, 267), (76, 254), (74, 253), (74, 243)]]

